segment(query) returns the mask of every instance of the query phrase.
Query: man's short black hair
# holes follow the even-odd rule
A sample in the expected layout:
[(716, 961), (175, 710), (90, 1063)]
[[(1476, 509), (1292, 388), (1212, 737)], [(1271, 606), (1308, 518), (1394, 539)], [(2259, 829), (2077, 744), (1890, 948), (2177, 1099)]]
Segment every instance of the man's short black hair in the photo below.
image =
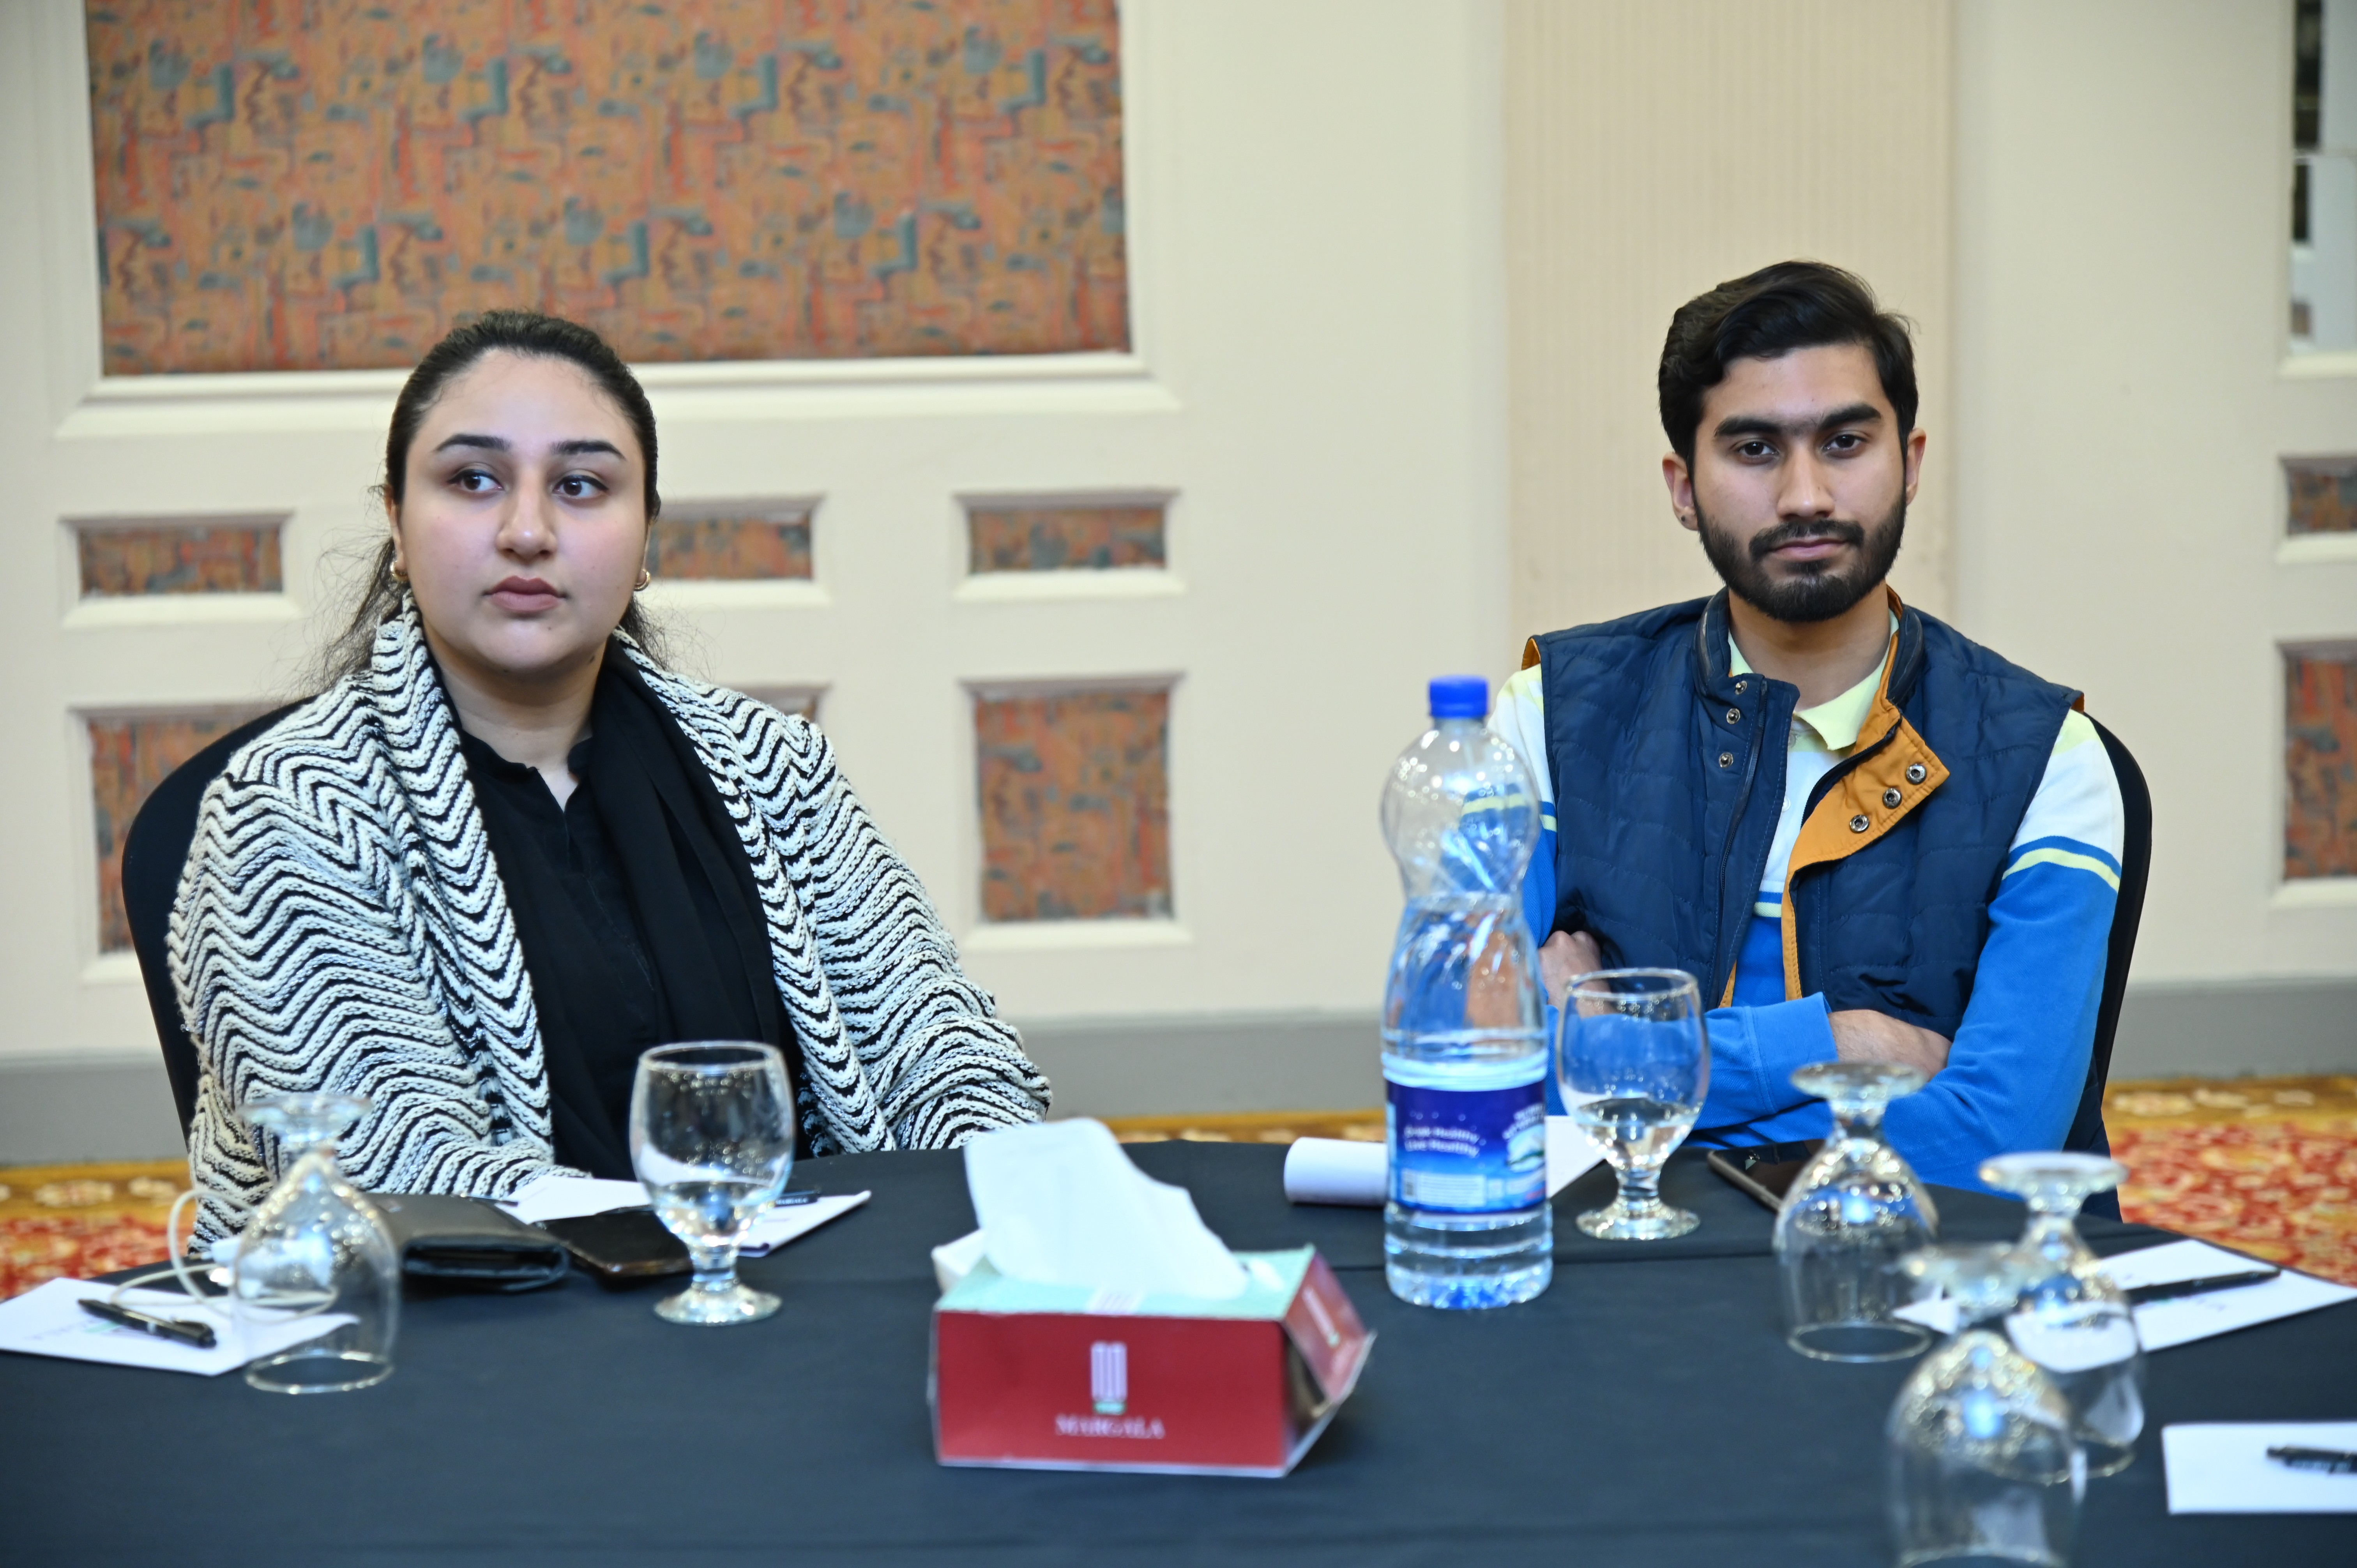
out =
[(1907, 318), (1881, 309), (1857, 274), (1824, 262), (1777, 262), (1695, 295), (1669, 318), (1662, 344), (1662, 431), (1692, 465), (1702, 396), (1728, 377), (1728, 363), (1853, 342), (1874, 354), (1883, 396), (1907, 436), (1916, 415)]

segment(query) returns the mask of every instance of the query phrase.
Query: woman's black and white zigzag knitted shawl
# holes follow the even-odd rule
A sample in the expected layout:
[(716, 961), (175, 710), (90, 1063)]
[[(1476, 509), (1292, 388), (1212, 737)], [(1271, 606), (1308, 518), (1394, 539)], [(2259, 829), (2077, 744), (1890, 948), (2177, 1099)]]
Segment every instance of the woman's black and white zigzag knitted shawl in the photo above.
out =
[[(1047, 1080), (825, 736), (622, 651), (752, 858), (801, 1045), (804, 1153), (955, 1148), (1039, 1120)], [(365, 1094), (339, 1146), (365, 1191), (497, 1198), (554, 1167), (533, 986), (457, 733), (408, 604), (377, 630), (368, 674), (290, 712), (205, 790), (170, 938), (203, 1061), (200, 1236), (236, 1231), (276, 1179), (233, 1115), (262, 1094)]]

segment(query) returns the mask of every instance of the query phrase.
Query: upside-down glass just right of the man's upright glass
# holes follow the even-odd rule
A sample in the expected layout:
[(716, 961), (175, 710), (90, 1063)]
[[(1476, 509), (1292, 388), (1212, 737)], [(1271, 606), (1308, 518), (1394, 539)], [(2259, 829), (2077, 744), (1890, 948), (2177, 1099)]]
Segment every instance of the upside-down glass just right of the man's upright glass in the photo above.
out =
[(1930, 1344), (1921, 1323), (1893, 1318), (1914, 1294), (1902, 1257), (1930, 1245), (1940, 1212), (1883, 1144), (1883, 1108), (1923, 1087), (1888, 1061), (1820, 1061), (1791, 1075), (1834, 1108), (1834, 1137), (1801, 1167), (1775, 1217), (1784, 1342), (1820, 1361), (1902, 1361)]

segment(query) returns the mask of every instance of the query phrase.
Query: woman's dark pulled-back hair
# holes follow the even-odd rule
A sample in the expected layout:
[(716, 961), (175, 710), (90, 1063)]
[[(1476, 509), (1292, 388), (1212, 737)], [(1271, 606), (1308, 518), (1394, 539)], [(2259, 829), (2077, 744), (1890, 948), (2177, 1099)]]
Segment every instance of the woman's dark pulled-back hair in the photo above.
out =
[[(417, 441), (417, 427), (424, 424), (427, 410), (434, 408), (434, 401), (441, 398), (450, 382), (497, 349), (533, 358), (570, 361), (587, 370), (589, 380), (613, 398), (622, 417), (629, 420), (629, 429), (639, 436), (639, 453), (646, 457), (646, 523), (653, 528), (662, 514), (662, 498), (655, 493), (655, 410), (646, 401), (646, 389), (639, 387), (639, 377), (629, 373), (629, 365), (622, 363), (622, 356), (603, 337), (577, 321), (542, 316), (540, 311), (483, 311), (427, 349), (427, 356), (410, 370), (410, 380), (401, 384), (401, 396), (394, 398), (394, 424), (384, 434), (384, 483), (377, 486), (377, 500), (387, 507), (401, 505), (408, 488), (410, 443)], [(351, 620), (321, 653), (318, 689), (368, 670), (368, 653), (377, 639), (377, 627), (396, 613), (401, 613), (401, 585), (394, 582), (394, 542), (387, 538), (375, 552), (375, 564), (365, 582), (361, 582), (361, 601), (354, 606)], [(636, 597), (622, 611), (622, 630), (646, 653), (658, 653), (660, 632), (648, 622)]]

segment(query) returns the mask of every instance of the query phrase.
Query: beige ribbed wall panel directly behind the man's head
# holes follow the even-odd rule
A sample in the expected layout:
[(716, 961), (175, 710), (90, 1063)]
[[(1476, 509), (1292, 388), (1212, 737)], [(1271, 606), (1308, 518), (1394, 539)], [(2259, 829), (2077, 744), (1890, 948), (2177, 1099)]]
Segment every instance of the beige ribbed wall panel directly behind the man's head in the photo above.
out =
[(1655, 365), (1671, 311), (1768, 262), (1912, 316), (1930, 434), (1893, 582), (1952, 606), (1949, 0), (1508, 0), (1511, 670), (1530, 632), (1706, 594), (1671, 519)]

